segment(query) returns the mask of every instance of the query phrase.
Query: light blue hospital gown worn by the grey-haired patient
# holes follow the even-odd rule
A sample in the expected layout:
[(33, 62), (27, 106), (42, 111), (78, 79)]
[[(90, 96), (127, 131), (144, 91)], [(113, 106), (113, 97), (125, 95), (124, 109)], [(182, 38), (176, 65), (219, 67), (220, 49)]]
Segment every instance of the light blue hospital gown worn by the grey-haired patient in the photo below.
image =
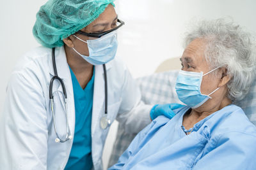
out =
[(187, 136), (188, 110), (174, 110), (172, 120), (157, 117), (109, 169), (256, 169), (256, 127), (241, 108), (230, 104), (212, 113)]

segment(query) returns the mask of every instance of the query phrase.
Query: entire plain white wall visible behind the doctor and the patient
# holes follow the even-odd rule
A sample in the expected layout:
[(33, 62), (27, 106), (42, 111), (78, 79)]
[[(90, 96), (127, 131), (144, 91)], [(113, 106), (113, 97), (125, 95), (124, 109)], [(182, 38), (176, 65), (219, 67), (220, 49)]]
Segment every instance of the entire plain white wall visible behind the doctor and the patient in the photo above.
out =
[[(0, 110), (15, 61), (38, 46), (32, 27), (36, 12), (45, 2), (13, 0), (1, 4)], [(192, 18), (231, 16), (248, 30), (256, 31), (255, 7), (255, 0), (118, 0), (116, 10), (125, 21), (118, 34), (118, 55), (135, 78), (152, 74), (163, 60), (182, 54), (182, 35)], [(104, 151), (105, 167), (115, 132), (114, 128)]]

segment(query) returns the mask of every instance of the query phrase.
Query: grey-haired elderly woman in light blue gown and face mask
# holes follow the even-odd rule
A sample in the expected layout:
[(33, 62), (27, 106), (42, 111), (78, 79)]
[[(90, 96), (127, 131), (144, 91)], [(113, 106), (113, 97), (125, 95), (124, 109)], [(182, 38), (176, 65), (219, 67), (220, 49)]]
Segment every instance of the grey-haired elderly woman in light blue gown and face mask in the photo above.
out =
[(256, 127), (232, 104), (255, 77), (250, 35), (218, 19), (185, 42), (176, 92), (186, 106), (153, 120), (109, 169), (256, 169)]

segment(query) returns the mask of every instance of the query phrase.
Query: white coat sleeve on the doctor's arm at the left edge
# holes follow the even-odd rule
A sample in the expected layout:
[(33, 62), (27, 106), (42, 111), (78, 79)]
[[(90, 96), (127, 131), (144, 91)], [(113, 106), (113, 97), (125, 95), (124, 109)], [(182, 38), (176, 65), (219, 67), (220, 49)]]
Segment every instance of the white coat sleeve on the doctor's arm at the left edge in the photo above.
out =
[(40, 82), (14, 72), (0, 117), (1, 169), (47, 169), (47, 114)]

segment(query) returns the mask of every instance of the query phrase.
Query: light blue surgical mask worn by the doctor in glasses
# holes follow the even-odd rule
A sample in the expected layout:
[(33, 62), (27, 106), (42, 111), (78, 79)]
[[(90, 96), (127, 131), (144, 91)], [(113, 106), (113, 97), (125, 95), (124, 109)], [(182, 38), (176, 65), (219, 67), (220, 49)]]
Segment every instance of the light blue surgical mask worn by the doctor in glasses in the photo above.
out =
[(117, 50), (116, 31), (110, 32), (109, 34), (106, 34), (105, 36), (102, 36), (100, 38), (86, 41), (84, 41), (81, 38), (78, 38), (75, 35), (73, 36), (79, 39), (80, 41), (87, 43), (89, 56), (82, 55), (81, 53), (77, 52), (75, 48), (73, 48), (73, 50), (79, 55), (81, 55), (81, 57), (83, 57), (83, 59), (89, 62), (90, 64), (94, 66), (106, 64), (110, 60), (114, 59)]

